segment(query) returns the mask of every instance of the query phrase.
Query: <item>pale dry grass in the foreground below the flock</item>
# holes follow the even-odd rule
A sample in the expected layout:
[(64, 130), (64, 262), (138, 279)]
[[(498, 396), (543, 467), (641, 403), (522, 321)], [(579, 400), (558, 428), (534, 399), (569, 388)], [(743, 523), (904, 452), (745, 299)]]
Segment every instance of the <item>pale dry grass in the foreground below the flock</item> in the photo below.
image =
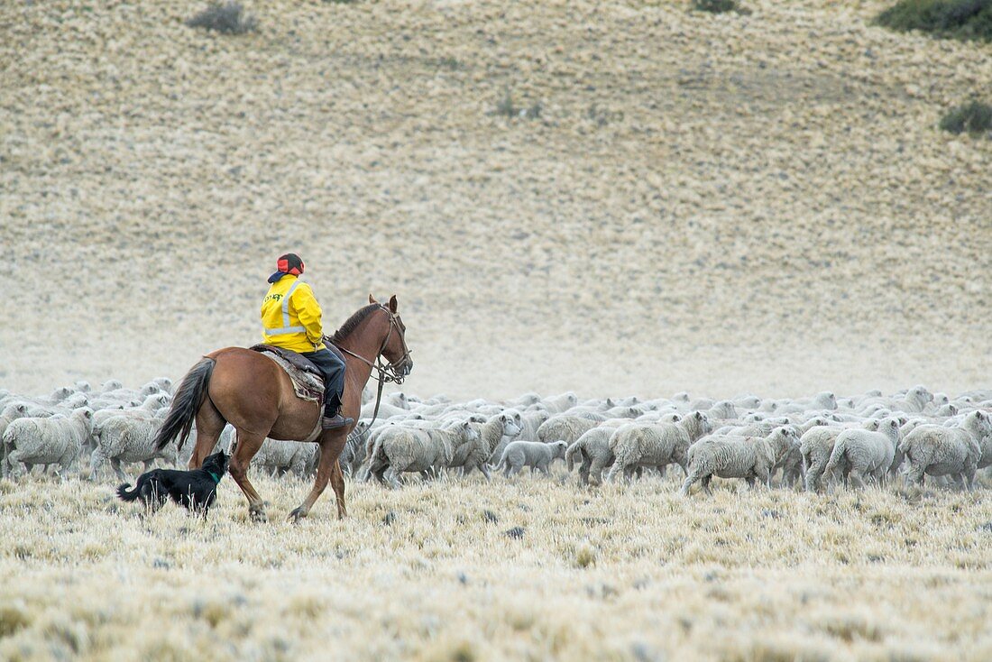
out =
[[(298, 481), (259, 479), (271, 513)], [(4, 659), (988, 659), (984, 493), (348, 486), (300, 526), (0, 482)], [(495, 515), (495, 517), (494, 517)], [(495, 519), (495, 521), (494, 521)], [(523, 535), (507, 531), (521, 527)]]

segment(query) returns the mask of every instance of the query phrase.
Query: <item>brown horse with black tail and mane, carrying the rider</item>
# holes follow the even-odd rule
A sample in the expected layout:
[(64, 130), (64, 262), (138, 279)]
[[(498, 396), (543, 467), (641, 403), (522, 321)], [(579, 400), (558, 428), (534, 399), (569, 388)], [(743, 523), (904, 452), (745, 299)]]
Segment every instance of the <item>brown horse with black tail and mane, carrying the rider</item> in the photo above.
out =
[[(389, 365), (375, 367), (392, 371), (400, 378), (414, 367), (405, 337), (407, 328), (396, 314), (396, 307), (396, 297), (384, 306), (369, 295), (369, 305), (352, 315), (330, 338), (345, 354), (341, 414), (346, 417), (358, 420), (362, 389), (380, 355), (389, 360)], [(251, 349), (226, 347), (207, 354), (186, 373), (156, 437), (155, 448), (161, 450), (177, 437), (182, 448), (195, 418), (196, 448), (189, 468), (196, 468), (212, 453), (224, 425), (233, 425), (237, 437), (229, 470), (248, 498), (249, 515), (264, 521), (268, 519), (265, 503), (248, 479), (251, 459), (266, 437), (308, 440), (317, 428), (319, 416), (317, 404), (296, 396), (293, 382), (275, 361)], [(307, 499), (290, 517), (297, 521), (306, 517), (328, 480), (337, 497), (337, 516), (347, 515), (344, 476), (337, 459), (353, 427), (328, 430), (313, 440), (320, 445), (316, 479)]]

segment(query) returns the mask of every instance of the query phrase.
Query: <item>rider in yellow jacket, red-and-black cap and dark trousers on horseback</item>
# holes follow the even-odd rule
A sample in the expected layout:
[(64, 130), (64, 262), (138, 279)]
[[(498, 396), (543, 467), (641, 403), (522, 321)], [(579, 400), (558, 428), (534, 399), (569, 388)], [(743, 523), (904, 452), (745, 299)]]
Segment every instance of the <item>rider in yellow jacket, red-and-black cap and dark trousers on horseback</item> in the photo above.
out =
[(339, 413), (344, 393), (344, 361), (323, 343), (320, 305), (310, 285), (300, 280), (304, 269), (304, 261), (295, 253), (282, 255), (276, 262), (276, 273), (269, 276), (272, 285), (262, 300), (262, 337), (265, 344), (303, 354), (323, 372), (320, 427), (337, 430), (355, 422)]

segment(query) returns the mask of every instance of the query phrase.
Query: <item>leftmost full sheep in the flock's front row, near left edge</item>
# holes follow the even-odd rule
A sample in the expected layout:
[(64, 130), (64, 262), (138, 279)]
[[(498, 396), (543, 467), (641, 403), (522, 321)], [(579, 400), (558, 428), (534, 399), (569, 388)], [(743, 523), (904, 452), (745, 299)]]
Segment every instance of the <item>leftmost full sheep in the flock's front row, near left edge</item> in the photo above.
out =
[(68, 416), (22, 418), (12, 422), (3, 435), (11, 475), (21, 465), (60, 465), (60, 472), (75, 462), (93, 431), (93, 412), (77, 409)]

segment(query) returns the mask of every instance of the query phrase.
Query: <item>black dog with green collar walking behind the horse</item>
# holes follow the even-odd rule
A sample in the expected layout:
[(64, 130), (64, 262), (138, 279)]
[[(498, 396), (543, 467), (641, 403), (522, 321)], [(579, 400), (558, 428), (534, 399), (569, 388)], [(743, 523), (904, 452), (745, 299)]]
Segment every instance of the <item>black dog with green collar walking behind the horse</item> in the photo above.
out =
[(227, 472), (228, 456), (223, 451), (207, 456), (203, 465), (189, 471), (169, 468), (156, 468), (138, 477), (134, 489), (128, 491), (130, 483), (117, 488), (117, 496), (123, 501), (141, 499), (146, 507), (155, 512), (171, 498), (186, 506), (187, 510), (202, 512), (210, 509), (217, 498), (217, 483)]

